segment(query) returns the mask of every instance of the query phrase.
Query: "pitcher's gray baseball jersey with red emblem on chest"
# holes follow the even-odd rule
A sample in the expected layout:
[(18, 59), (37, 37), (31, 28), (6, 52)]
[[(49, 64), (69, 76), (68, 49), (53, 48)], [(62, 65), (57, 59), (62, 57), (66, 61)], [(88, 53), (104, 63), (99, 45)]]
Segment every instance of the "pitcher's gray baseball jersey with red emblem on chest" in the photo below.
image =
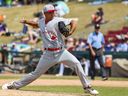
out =
[(65, 47), (62, 34), (58, 29), (58, 22), (63, 21), (65, 25), (69, 25), (71, 19), (61, 17), (54, 17), (51, 21), (45, 24), (45, 19), (39, 20), (39, 27), (41, 29), (41, 36), (44, 48), (60, 48)]

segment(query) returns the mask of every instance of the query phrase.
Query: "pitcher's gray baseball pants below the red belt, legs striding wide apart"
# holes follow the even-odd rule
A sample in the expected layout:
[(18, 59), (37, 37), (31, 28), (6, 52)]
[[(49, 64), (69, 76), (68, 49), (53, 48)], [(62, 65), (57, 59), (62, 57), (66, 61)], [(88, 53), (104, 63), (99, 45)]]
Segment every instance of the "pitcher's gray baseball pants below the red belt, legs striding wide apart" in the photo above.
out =
[(83, 88), (88, 87), (90, 85), (90, 82), (87, 80), (80, 62), (70, 52), (68, 52), (66, 49), (63, 49), (60, 52), (45, 50), (39, 60), (35, 71), (24, 76), (21, 80), (15, 81), (13, 83), (14, 87), (16, 89), (19, 89), (23, 86), (28, 85), (29, 83), (33, 82), (38, 77), (40, 77), (43, 73), (45, 73), (50, 67), (60, 62), (67, 64), (67, 66), (75, 70), (75, 72), (80, 78)]

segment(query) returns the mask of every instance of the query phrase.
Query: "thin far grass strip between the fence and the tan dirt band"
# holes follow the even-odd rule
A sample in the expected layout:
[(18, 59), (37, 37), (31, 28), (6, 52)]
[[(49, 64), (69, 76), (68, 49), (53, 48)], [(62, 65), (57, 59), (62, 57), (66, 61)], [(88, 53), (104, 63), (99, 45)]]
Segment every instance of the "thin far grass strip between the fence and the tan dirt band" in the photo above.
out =
[[(24, 75), (0, 75), (0, 79), (20, 79)], [(56, 77), (54, 75), (42, 75), (39, 79), (69, 79), (69, 80), (75, 80), (79, 79), (77, 76), (62, 76), (62, 77)], [(101, 80), (101, 77), (96, 77), (96, 80)], [(110, 77), (110, 81), (128, 81), (128, 78), (121, 78), (121, 77)]]

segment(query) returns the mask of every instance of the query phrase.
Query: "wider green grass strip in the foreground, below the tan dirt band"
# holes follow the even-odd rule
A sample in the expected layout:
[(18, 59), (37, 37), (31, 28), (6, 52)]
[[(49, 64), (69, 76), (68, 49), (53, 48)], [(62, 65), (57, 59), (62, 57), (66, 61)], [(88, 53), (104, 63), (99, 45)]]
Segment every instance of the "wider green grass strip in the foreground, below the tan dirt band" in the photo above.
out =
[[(100, 92), (98, 96), (128, 96), (128, 88), (120, 87), (94, 87)], [(52, 92), (52, 93), (70, 93), (84, 94), (81, 86), (27, 86), (22, 88), (24, 91)]]

